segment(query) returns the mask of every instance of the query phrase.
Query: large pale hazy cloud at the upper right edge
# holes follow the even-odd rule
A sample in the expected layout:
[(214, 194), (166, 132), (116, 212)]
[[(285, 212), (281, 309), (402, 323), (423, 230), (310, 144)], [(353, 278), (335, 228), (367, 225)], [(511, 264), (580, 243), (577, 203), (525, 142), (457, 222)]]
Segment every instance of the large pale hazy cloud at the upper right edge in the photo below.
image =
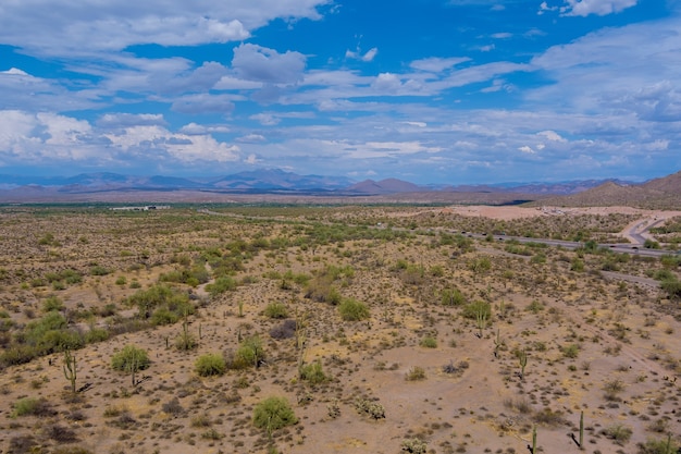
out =
[[(657, 122), (681, 120), (681, 19), (605, 28), (532, 60), (553, 84), (530, 90), (537, 105), (619, 112)], [(620, 121), (621, 122), (621, 121)], [(637, 126), (640, 127), (640, 126)]]

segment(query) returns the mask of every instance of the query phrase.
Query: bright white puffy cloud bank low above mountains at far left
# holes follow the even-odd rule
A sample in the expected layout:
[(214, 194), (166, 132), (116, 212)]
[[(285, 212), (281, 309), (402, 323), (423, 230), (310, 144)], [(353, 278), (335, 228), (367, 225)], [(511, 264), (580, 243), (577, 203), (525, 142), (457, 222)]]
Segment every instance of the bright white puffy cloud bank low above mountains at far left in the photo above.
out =
[(0, 111), (0, 162), (4, 164), (126, 167), (133, 157), (150, 165), (159, 163), (157, 158), (165, 164), (221, 163), (238, 160), (240, 149), (210, 134), (173, 133), (160, 115), (106, 114), (94, 126), (54, 113)]

